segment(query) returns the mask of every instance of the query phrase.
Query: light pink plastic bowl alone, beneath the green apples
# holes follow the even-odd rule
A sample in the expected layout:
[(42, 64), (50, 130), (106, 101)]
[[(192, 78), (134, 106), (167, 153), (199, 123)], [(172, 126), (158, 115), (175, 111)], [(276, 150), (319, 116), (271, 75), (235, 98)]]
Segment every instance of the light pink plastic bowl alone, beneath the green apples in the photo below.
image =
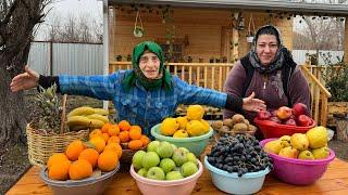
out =
[(165, 194), (165, 195), (178, 195), (178, 194), (191, 194), (196, 186), (198, 178), (203, 172), (202, 164), (198, 160), (198, 171), (187, 178), (174, 181), (160, 181), (144, 178), (135, 172), (133, 165), (130, 166), (130, 176), (135, 179), (140, 192), (144, 195), (147, 194)]

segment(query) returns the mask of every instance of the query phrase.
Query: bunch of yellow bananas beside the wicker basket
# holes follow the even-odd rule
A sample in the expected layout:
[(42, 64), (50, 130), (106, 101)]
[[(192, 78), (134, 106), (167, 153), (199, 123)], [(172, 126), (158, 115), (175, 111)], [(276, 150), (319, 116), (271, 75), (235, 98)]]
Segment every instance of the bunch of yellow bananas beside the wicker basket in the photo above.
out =
[(67, 114), (66, 125), (71, 131), (82, 129), (100, 129), (109, 122), (109, 112), (102, 108), (82, 106)]

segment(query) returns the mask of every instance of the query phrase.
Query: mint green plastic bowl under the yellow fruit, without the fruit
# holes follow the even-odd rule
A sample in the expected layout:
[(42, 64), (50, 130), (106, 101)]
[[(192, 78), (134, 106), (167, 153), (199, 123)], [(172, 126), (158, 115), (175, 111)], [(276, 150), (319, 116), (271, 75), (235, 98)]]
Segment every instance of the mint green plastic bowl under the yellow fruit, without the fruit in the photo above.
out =
[(209, 138), (213, 134), (213, 129), (210, 127), (209, 132), (199, 136), (191, 138), (173, 138), (165, 136), (160, 133), (161, 123), (151, 128), (151, 134), (158, 141), (167, 141), (177, 147), (186, 147), (189, 152), (199, 157), (206, 150)]

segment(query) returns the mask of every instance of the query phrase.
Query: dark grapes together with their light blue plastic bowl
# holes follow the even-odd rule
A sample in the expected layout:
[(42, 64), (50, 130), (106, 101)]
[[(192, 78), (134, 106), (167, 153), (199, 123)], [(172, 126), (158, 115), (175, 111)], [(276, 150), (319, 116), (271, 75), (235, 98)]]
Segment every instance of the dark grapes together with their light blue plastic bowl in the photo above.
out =
[(253, 194), (261, 190), (272, 160), (259, 141), (248, 134), (225, 134), (206, 156), (213, 184), (231, 194)]

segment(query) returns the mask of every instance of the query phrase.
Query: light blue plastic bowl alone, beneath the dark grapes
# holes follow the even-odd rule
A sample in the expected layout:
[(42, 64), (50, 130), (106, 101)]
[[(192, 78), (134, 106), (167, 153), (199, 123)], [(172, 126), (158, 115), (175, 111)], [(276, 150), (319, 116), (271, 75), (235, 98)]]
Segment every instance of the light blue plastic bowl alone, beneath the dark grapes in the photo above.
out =
[(238, 178), (236, 172), (229, 173), (209, 164), (204, 157), (204, 166), (209, 170), (213, 184), (228, 194), (253, 194), (261, 190), (270, 169), (249, 172)]

